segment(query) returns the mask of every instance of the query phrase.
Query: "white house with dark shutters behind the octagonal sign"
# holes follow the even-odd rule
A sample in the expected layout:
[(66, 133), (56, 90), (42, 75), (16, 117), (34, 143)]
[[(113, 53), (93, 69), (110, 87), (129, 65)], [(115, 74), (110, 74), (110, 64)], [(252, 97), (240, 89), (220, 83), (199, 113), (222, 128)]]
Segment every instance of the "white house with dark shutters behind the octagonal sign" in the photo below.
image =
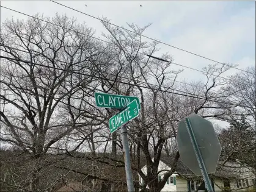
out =
[[(153, 160), (153, 159), (152, 159)], [(158, 171), (163, 171), (159, 173), (158, 179), (163, 178), (164, 170), (170, 170), (170, 165), (172, 163), (172, 158), (161, 157), (159, 162)], [(255, 185), (255, 174), (250, 168), (241, 167), (238, 163), (225, 163), (222, 166), (222, 162), (218, 163), (216, 172), (210, 174), (211, 184), (215, 192), (230, 188), (236, 191), (247, 191), (249, 187)], [(147, 174), (147, 167), (144, 166), (142, 169), (144, 174)], [(190, 171), (186, 166), (179, 161), (177, 165), (177, 171), (169, 177), (161, 191), (195, 191), (199, 185), (199, 177), (196, 177), (192, 171)], [(144, 183), (141, 177), (139, 177), (141, 184)], [(205, 191), (204, 182), (199, 187), (199, 192)]]

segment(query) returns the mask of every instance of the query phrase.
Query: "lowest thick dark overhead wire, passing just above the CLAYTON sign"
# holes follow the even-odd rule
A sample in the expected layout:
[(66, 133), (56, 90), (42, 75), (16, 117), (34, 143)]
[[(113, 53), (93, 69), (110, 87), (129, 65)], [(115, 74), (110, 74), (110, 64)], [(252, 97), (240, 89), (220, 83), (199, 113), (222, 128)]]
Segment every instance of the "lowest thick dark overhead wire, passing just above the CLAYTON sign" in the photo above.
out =
[[(10, 57), (5, 57), (5, 56), (2, 56), (0, 55), (0, 58), (3, 58), (3, 59), (7, 59), (7, 60), (15, 60), (15, 61), (18, 61), (18, 62), (24, 62), (24, 63), (31, 63), (33, 65), (38, 65), (38, 66), (44, 66), (46, 68), (52, 68), (52, 69), (58, 69), (58, 70), (61, 70), (61, 71), (66, 71), (66, 72), (71, 72), (71, 73), (75, 73), (75, 74), (81, 74), (81, 75), (84, 75), (84, 76), (89, 76), (89, 77), (94, 77), (94, 78), (97, 78), (97, 79), (103, 79), (103, 80), (109, 80), (109, 81), (112, 81), (112, 82), (119, 82), (120, 84), (126, 84), (126, 85), (132, 85), (132, 86), (137, 86), (137, 87), (141, 87), (141, 88), (147, 88), (149, 90), (158, 90), (158, 91), (162, 91), (164, 93), (172, 93), (172, 94), (178, 94), (178, 95), (181, 95), (181, 96), (186, 96), (186, 97), (189, 97), (189, 98), (196, 98), (196, 99), (202, 99), (202, 100), (205, 100), (205, 98), (199, 98), (199, 96), (191, 96), (191, 95), (186, 95), (186, 94), (181, 94), (181, 93), (176, 93), (176, 92), (171, 92), (171, 91), (166, 91), (166, 90), (159, 90), (158, 88), (149, 88), (149, 87), (146, 87), (146, 86), (143, 86), (143, 85), (136, 85), (136, 84), (130, 84), (130, 83), (127, 83), (127, 82), (122, 82), (122, 81), (119, 81), (119, 80), (112, 80), (112, 79), (108, 79), (106, 77), (97, 77), (97, 76), (93, 76), (93, 75), (90, 75), (90, 74), (84, 74), (84, 73), (79, 73), (77, 71), (70, 71), (70, 70), (67, 70), (67, 69), (61, 69), (61, 68), (56, 68), (56, 67), (53, 67), (53, 66), (47, 66), (47, 65), (42, 65), (42, 64), (38, 64), (38, 63), (33, 63), (33, 62), (29, 62), (27, 60), (21, 60), (21, 59), (13, 59), (13, 58), (10, 58)], [(237, 107), (244, 107), (244, 108), (248, 108), (244, 105), (241, 105), (241, 104), (231, 104), (229, 102), (224, 102), (224, 101), (216, 101), (214, 99), (208, 99), (208, 101), (212, 101), (212, 102), (218, 102), (218, 103), (221, 103), (221, 104), (228, 104), (228, 105), (234, 105), (234, 106), (237, 106)]]

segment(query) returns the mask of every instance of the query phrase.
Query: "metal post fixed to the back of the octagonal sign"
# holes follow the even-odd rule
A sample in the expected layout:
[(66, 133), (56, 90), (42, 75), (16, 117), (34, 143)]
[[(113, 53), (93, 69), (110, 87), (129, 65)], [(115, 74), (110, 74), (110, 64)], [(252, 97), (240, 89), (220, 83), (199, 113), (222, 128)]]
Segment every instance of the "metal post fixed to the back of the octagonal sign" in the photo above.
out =
[(194, 132), (192, 130), (192, 126), (191, 123), (189, 121), (189, 118), (185, 118), (185, 124), (186, 124), (186, 128), (188, 130), (188, 134), (192, 143), (192, 146), (194, 148), (194, 151), (196, 153), (196, 158), (197, 158), (197, 162), (199, 163), (199, 168), (202, 172), (202, 176), (203, 176), (203, 180), (205, 180), (205, 187), (207, 188), (208, 192), (213, 192), (213, 187), (211, 186), (211, 182), (207, 173), (207, 169), (205, 168), (205, 163), (203, 162), (203, 158), (199, 149), (199, 146), (197, 144), (196, 141), (196, 137), (194, 135)]

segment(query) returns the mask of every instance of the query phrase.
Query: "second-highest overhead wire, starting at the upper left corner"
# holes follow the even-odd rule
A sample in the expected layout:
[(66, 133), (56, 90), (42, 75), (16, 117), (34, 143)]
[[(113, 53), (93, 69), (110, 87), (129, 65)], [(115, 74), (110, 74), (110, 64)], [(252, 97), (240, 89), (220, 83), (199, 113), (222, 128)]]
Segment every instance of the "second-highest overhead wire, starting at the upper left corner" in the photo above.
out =
[[(54, 25), (54, 26), (63, 27), (64, 29), (71, 30), (71, 31), (76, 32), (76, 33), (78, 33), (78, 34), (86, 35), (87, 37), (95, 38), (96, 40), (103, 41), (103, 42), (105, 42), (105, 43), (113, 44), (113, 45), (116, 46), (116, 44), (111, 43), (111, 42), (109, 42), (109, 41), (105, 41), (105, 40), (102, 40), (102, 39), (100, 39), (100, 38), (93, 37), (93, 36), (88, 35), (88, 34), (84, 34), (84, 33), (82, 33), (82, 32), (77, 32), (77, 31), (75, 31), (75, 30), (73, 30), (73, 29), (69, 29), (69, 28), (67, 28), (67, 27), (60, 26), (60, 25), (58, 25), (58, 24), (54, 24), (54, 23), (51, 23), (51, 22), (49, 22), (49, 21), (42, 20), (42, 19), (37, 18), (37, 17), (35, 17), (35, 16), (27, 15), (26, 13), (22, 13), (22, 12), (19, 12), (19, 11), (17, 11), (17, 10), (10, 9), (10, 8), (4, 7), (4, 6), (2, 6), (2, 5), (0, 5), (0, 7), (3, 7), (3, 8), (8, 9), (8, 10), (12, 10), (13, 12), (20, 13), (20, 14), (22, 14), (22, 15), (29, 16), (29, 17), (31, 17), (31, 18), (34, 18), (34, 19), (36, 19), (36, 20), (43, 21), (43, 22), (45, 22), (45, 23), (52, 24), (52, 25)], [(143, 54), (143, 53), (141, 53), (141, 52), (139, 52), (139, 54), (147, 55), (147, 54)], [(194, 70), (194, 71), (198, 71), (198, 72), (200, 72), (200, 73), (205, 74), (205, 71), (201, 71), (201, 70), (199, 70), (199, 69), (194, 69), (194, 68), (191, 68), (191, 67), (189, 67), (189, 66), (181, 65), (181, 64), (178, 64), (178, 63), (174, 63), (174, 62), (170, 62), (170, 63), (172, 63), (172, 64), (174, 64), (174, 65), (178, 65), (178, 66), (183, 66), (183, 67), (185, 67), (185, 68), (192, 69), (192, 70)], [(210, 74), (210, 75), (212, 75), (212, 76), (214, 76), (214, 77), (217, 77), (217, 75), (215, 75), (215, 74), (213, 74), (213, 73)], [(218, 77), (220, 77), (220, 78), (222, 78), (222, 79), (230, 80), (230, 79), (227, 78), (227, 77), (222, 77), (222, 76), (218, 76)]]

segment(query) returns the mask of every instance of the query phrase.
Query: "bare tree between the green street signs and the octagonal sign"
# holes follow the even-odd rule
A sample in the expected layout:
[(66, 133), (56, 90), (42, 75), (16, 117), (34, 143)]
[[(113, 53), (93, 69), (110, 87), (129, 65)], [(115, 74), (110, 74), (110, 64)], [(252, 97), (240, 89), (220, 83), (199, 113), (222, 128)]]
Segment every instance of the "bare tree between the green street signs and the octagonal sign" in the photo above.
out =
[[(123, 55), (122, 63), (127, 70), (120, 79), (122, 82), (131, 80), (129, 84), (133, 86), (129, 93), (138, 96), (141, 100), (140, 117), (128, 124), (131, 143), (136, 143), (134, 146), (136, 161), (133, 162), (133, 169), (145, 182), (144, 186), (141, 186), (142, 190), (148, 186), (149, 191), (161, 191), (166, 180), (175, 171), (179, 158), (177, 152), (172, 169), (164, 174), (161, 181), (158, 181), (158, 165), (164, 143), (169, 138), (175, 138), (178, 121), (191, 112), (205, 114), (205, 117), (223, 115), (218, 113), (216, 108), (221, 109), (225, 107), (225, 104), (216, 103), (216, 99), (221, 101), (226, 95), (216, 94), (212, 90), (227, 84), (227, 80), (219, 76), (229, 70), (230, 66), (209, 65), (204, 68), (207, 82), (203, 88), (195, 90), (196, 96), (191, 94), (177, 96), (181, 91), (183, 93), (186, 91), (182, 88), (175, 91), (175, 79), (182, 70), (170, 71), (172, 57), (169, 54), (161, 56), (161, 59), (169, 60), (169, 62), (145, 57), (145, 55), (152, 55), (158, 51), (156, 42), (148, 43), (141, 39), (141, 34), (148, 26), (140, 28), (135, 24), (128, 24), (130, 30), (133, 31), (131, 32), (112, 27), (106, 19), (102, 23), (109, 32), (106, 37), (119, 48), (118, 50)], [(121, 86), (115, 84), (113, 87), (116, 85)], [(122, 87), (126, 88), (124, 85)], [(119, 90), (122, 90), (122, 87), (119, 87)], [(191, 96), (192, 99), (190, 99)], [(189, 102), (189, 105), (186, 102)], [(183, 108), (180, 108), (182, 105)], [(188, 110), (189, 106), (190, 110)], [(141, 171), (141, 156), (145, 158), (146, 172)]]

